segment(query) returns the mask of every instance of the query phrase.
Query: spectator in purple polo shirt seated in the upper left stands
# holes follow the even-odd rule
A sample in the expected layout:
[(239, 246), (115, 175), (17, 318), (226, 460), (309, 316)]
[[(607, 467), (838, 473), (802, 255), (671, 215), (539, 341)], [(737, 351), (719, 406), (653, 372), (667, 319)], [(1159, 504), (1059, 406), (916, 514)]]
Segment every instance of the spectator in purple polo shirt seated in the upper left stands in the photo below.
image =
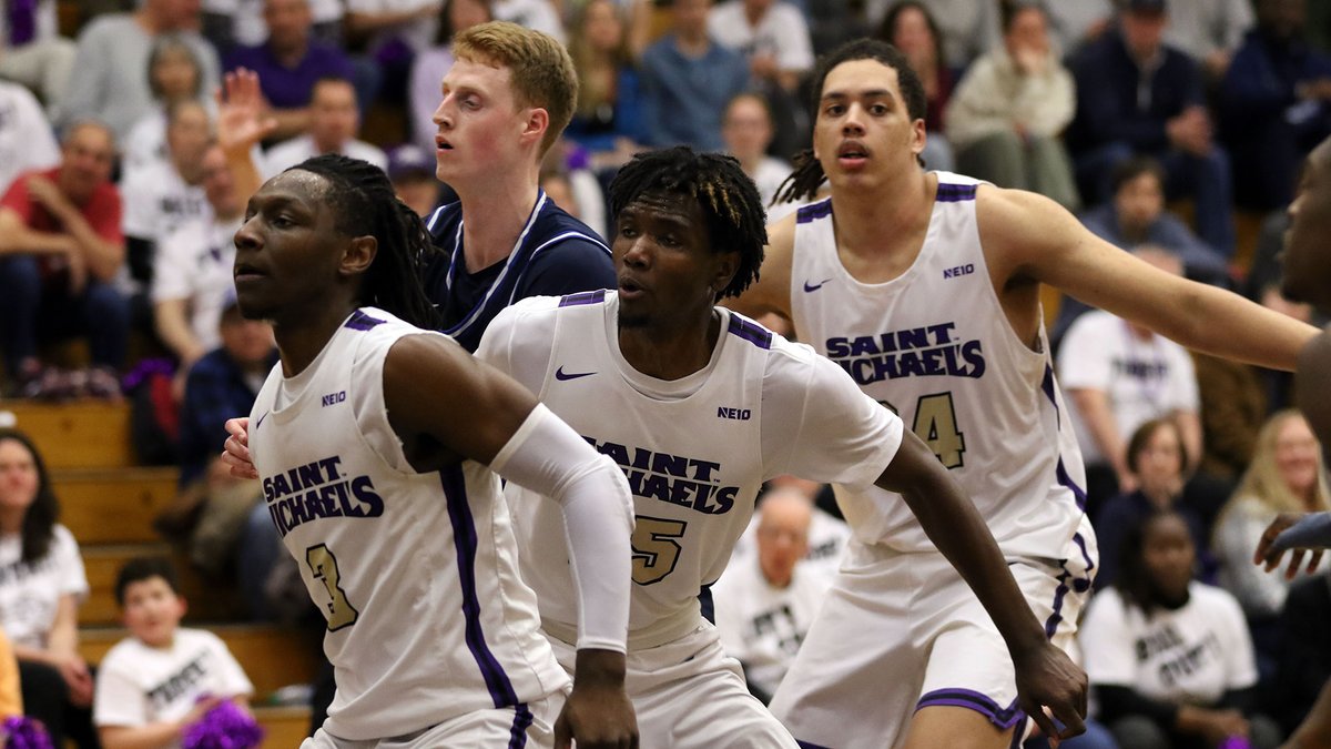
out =
[[(258, 73), (264, 99), (277, 120), (274, 140), (285, 140), (310, 128), (310, 96), (319, 79), (355, 81), (357, 71), (341, 49), (310, 36), (314, 23), (309, 0), (265, 0), (268, 41), (258, 47), (236, 47), (226, 55), (225, 68), (249, 68)], [(361, 87), (357, 85), (357, 93)]]

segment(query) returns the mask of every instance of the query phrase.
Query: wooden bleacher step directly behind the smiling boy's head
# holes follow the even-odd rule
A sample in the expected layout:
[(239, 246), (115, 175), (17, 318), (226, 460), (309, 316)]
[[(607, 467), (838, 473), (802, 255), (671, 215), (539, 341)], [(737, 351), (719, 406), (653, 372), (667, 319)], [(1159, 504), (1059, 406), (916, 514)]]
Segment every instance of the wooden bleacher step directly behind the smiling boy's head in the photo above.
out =
[(88, 600), (79, 608), (81, 626), (114, 626), (120, 624), (120, 606), (116, 604), (116, 576), (120, 568), (134, 557), (169, 557), (180, 577), (180, 592), (189, 601), (186, 622), (196, 621), (241, 621), (245, 609), (234, 584), (218, 584), (204, 578), (184, 554), (174, 552), (169, 544), (116, 544), (106, 546), (83, 546), (84, 569), (88, 573)]

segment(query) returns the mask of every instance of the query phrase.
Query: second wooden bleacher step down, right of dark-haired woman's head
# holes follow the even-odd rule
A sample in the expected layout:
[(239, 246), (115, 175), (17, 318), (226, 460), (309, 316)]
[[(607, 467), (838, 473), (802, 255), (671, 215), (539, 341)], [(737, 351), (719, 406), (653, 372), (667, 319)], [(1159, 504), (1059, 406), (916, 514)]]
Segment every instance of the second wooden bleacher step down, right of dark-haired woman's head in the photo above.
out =
[(176, 496), (176, 468), (96, 468), (52, 473), (60, 521), (80, 545), (160, 541), (153, 518)]

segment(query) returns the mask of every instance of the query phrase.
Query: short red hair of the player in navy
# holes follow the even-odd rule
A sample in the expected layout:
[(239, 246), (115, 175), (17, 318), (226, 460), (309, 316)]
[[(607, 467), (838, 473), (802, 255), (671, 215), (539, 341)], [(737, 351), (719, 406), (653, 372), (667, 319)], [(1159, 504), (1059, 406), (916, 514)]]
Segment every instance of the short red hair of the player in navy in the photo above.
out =
[(453, 56), (508, 68), (512, 92), (523, 107), (550, 115), (540, 155), (559, 140), (578, 104), (578, 72), (563, 44), (552, 36), (508, 21), (474, 25), (453, 39)]

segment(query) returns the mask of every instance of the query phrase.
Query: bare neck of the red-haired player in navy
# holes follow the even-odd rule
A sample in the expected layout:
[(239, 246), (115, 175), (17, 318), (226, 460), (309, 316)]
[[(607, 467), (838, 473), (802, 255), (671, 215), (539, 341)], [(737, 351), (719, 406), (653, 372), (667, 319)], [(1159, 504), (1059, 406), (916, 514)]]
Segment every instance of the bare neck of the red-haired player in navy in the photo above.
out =
[(536, 207), (536, 180), (504, 180), (458, 189), (462, 201), (462, 255), (467, 272), (483, 271), (508, 257)]

